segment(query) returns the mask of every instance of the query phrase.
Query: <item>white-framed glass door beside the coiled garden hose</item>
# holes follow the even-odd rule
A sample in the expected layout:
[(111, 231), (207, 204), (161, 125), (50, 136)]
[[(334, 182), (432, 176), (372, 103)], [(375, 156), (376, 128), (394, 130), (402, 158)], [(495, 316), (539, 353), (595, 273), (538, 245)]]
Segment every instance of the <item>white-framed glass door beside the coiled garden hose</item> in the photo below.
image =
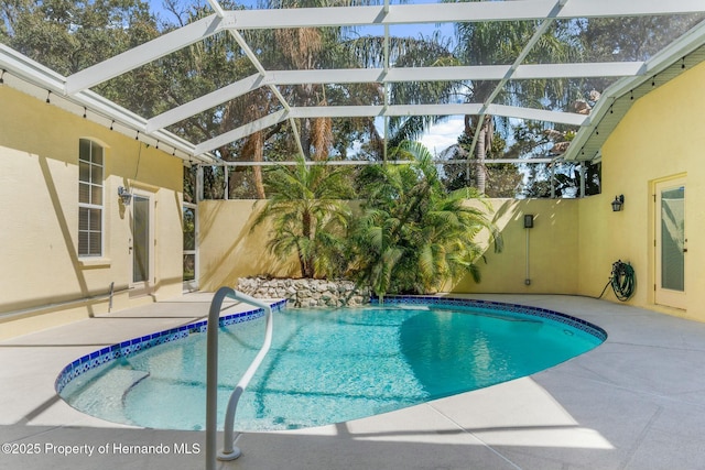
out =
[(685, 178), (655, 186), (655, 303), (685, 308)]

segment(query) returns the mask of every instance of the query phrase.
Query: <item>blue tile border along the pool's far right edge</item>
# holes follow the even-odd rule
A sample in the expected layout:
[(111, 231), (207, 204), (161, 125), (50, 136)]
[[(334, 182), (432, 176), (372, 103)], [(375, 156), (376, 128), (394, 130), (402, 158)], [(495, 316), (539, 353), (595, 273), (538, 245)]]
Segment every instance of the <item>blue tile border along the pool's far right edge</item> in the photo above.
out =
[[(372, 298), (371, 304), (379, 305), (379, 299)], [(476, 298), (437, 297), (424, 295), (389, 295), (384, 296), (384, 305), (429, 305), (438, 307), (487, 308), (557, 321), (592, 335), (601, 342), (607, 339), (607, 331), (589, 321), (585, 321), (571, 315), (562, 314), (561, 311), (550, 310), (547, 308), (541, 307), (531, 307), (521, 304), (480, 300)]]

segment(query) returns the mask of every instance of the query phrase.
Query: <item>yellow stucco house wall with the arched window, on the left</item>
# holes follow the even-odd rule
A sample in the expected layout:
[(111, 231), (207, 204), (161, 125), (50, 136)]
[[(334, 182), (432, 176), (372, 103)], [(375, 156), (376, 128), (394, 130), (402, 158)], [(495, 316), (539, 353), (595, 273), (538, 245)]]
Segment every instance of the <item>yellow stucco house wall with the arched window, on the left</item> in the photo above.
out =
[[(118, 186), (152, 197), (153, 294), (180, 295), (182, 161), (7, 86), (0, 87), (0, 338), (107, 311), (107, 299), (70, 302), (107, 294), (111, 283), (113, 309), (152, 302), (130, 299), (127, 291), (131, 222)], [(77, 255), (82, 138), (105, 147), (105, 248), (98, 260)]]

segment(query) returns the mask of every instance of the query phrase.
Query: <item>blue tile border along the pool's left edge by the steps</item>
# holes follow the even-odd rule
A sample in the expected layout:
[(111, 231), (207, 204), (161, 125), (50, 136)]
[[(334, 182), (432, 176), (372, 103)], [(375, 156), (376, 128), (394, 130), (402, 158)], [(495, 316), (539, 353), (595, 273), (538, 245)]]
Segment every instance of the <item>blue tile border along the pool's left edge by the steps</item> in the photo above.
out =
[[(286, 300), (278, 300), (271, 305), (272, 311), (281, 310), (286, 306)], [(262, 308), (254, 308), (246, 311), (238, 311), (237, 314), (225, 315), (219, 319), (220, 327), (227, 327), (230, 325), (239, 324), (242, 321), (249, 321), (264, 316)], [(129, 339), (116, 345), (108, 346), (100, 350), (90, 352), (82, 358), (76, 359), (70, 364), (66, 365), (56, 378), (54, 382), (54, 389), (56, 393), (62, 393), (64, 387), (74, 379), (85, 374), (86, 372), (96, 369), (105, 363), (115, 361), (119, 358), (128, 358), (140, 351), (153, 348), (166, 342), (177, 341), (180, 339), (188, 338), (191, 335), (206, 332), (207, 320), (195, 321), (188, 325), (183, 325), (176, 328), (170, 328), (167, 330), (158, 331), (151, 335), (145, 335), (139, 338)]]

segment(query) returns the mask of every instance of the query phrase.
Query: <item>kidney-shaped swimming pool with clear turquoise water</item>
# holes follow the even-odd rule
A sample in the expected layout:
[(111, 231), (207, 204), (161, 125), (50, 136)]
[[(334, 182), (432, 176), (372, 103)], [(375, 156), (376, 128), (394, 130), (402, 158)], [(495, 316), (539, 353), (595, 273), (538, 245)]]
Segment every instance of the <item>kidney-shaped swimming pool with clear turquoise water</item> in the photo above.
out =
[[(238, 430), (338, 423), (525, 376), (598, 346), (600, 328), (519, 305), (392, 297), (384, 307), (274, 305), (272, 350), (240, 400)], [(219, 426), (263, 337), (261, 310), (221, 318)], [(135, 338), (64, 369), (72, 406), (143, 427), (202, 429), (205, 324)]]

